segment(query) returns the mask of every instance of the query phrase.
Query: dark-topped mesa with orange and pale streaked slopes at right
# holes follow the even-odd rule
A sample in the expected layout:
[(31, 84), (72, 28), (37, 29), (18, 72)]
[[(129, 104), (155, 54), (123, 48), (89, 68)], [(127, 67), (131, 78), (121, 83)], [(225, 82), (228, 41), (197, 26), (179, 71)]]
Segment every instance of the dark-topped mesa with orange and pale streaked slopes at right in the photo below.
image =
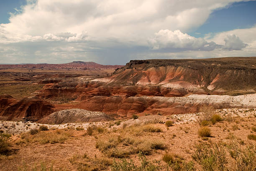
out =
[(107, 78), (95, 81), (160, 85), (196, 91), (256, 88), (256, 57), (191, 60), (131, 60)]

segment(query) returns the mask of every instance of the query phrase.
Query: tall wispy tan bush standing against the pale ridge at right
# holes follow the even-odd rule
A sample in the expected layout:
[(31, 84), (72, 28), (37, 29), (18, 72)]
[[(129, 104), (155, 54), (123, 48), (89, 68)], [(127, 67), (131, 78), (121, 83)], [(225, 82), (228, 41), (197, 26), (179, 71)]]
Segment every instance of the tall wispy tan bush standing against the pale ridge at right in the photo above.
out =
[(201, 125), (202, 121), (211, 121), (214, 114), (213, 106), (203, 105), (200, 110), (200, 116), (197, 118), (197, 122)]

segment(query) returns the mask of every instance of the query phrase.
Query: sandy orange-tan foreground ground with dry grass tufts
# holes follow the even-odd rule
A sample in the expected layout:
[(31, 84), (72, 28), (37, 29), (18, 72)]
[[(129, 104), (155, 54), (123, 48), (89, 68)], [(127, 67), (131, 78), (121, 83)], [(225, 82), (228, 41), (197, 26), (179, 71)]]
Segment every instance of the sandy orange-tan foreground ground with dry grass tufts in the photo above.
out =
[[(215, 113), (223, 121), (207, 126), (209, 137), (199, 136), (202, 126), (197, 123), (198, 113), (44, 125), (48, 131), (33, 135), (28, 131), (42, 124), (2, 121), (0, 129), (14, 135), (9, 140), (10, 153), (0, 157), (0, 170), (124, 170), (122, 166), (133, 167), (130, 159), (136, 165), (133, 170), (202, 170), (205, 165), (196, 155), (201, 147), (215, 149), (214, 144), (218, 144), (219, 149), (231, 149), (232, 142), (238, 142), (242, 150), (250, 146), (255, 161), (256, 140), (248, 135), (256, 135), (256, 109), (224, 109)], [(174, 123), (168, 127), (166, 121)], [(207, 166), (219, 170), (223, 162), (223, 167), (235, 169), (236, 158), (231, 157), (230, 151), (225, 151), (227, 162), (220, 157), (216, 165)], [(174, 158), (173, 162), (164, 162), (166, 154)]]

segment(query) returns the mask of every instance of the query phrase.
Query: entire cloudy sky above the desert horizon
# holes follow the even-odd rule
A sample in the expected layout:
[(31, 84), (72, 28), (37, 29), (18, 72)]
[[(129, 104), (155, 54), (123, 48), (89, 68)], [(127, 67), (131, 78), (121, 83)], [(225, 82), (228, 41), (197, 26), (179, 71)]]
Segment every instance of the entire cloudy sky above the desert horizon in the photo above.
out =
[(0, 0), (0, 63), (256, 56), (256, 1)]

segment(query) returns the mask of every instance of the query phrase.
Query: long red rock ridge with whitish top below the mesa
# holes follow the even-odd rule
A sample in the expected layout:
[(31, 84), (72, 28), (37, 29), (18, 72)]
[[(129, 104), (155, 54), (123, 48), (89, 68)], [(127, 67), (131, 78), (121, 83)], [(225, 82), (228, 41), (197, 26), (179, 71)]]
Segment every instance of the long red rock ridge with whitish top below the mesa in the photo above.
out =
[(188, 97), (106, 97), (94, 96), (76, 108), (117, 114), (124, 118), (134, 113), (184, 114), (198, 112), (202, 105), (221, 108), (256, 108), (256, 94), (242, 96), (190, 95)]

